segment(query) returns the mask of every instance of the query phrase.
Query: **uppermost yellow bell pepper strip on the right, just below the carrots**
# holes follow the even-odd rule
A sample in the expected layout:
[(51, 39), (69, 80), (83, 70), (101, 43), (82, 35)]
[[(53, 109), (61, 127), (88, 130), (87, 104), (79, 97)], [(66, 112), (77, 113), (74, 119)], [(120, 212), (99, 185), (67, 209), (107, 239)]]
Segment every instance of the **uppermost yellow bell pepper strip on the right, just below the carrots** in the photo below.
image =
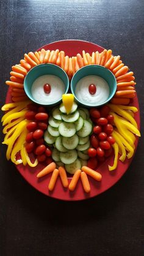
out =
[(124, 119), (129, 120), (129, 122), (132, 123), (137, 128), (137, 122), (135, 119), (129, 114), (128, 111), (119, 108), (118, 106), (114, 104), (108, 104), (109, 108), (112, 109), (112, 111), (116, 112), (118, 115), (121, 115)]

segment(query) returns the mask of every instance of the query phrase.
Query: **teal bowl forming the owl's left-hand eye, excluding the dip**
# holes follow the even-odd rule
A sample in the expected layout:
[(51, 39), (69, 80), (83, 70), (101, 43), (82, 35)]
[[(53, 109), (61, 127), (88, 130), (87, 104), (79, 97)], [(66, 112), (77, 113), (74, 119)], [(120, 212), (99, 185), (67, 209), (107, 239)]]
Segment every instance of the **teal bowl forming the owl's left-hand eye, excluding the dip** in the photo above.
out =
[(62, 68), (54, 64), (40, 64), (32, 68), (27, 73), (24, 79), (24, 90), (26, 92), (27, 97), (29, 97), (35, 103), (45, 105), (45, 106), (55, 106), (56, 104), (59, 104), (60, 101), (62, 101), (62, 97), (60, 97), (59, 100), (52, 101), (51, 103), (47, 103), (47, 102), (43, 103), (41, 101), (35, 100), (35, 98), (32, 96), (33, 82), (35, 81), (35, 79), (43, 75), (55, 75), (58, 78), (62, 79), (63, 83), (65, 84), (65, 91), (63, 93), (68, 92), (70, 82), (69, 82), (67, 73), (65, 73), (65, 71)]

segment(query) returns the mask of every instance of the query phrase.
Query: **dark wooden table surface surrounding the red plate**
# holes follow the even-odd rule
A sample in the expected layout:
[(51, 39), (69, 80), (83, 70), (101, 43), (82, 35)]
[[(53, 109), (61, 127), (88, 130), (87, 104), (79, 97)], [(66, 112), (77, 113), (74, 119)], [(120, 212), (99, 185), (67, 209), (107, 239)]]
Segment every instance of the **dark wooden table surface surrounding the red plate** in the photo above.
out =
[(1, 105), (10, 67), (24, 53), (72, 38), (120, 54), (135, 73), (142, 118), (142, 138), (126, 174), (109, 191), (82, 202), (40, 194), (6, 160), (1, 144), (0, 255), (143, 255), (144, 1), (1, 0), (0, 15)]

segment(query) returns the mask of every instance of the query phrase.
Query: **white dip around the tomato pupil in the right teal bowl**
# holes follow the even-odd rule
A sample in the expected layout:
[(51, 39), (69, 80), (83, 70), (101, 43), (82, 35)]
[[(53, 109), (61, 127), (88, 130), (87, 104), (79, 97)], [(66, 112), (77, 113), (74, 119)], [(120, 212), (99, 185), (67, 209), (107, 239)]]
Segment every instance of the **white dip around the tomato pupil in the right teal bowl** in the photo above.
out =
[[(93, 95), (88, 91), (90, 84), (95, 84), (96, 86), (96, 93)], [(77, 100), (89, 106), (95, 106), (95, 104), (101, 104), (107, 100), (109, 97), (109, 85), (100, 76), (84, 76), (76, 84), (75, 95)]]

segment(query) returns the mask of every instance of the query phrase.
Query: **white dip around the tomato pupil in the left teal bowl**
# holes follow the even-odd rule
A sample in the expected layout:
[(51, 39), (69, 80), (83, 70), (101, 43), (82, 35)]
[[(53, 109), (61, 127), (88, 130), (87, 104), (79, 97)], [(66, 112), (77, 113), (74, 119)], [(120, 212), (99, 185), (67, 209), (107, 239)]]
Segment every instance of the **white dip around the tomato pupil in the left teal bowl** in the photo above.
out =
[[(51, 86), (50, 93), (45, 93), (43, 89), (45, 84), (49, 84)], [(32, 84), (31, 92), (34, 100), (41, 104), (51, 104), (62, 98), (62, 94), (65, 93), (65, 84), (58, 76), (43, 75), (35, 79)]]

